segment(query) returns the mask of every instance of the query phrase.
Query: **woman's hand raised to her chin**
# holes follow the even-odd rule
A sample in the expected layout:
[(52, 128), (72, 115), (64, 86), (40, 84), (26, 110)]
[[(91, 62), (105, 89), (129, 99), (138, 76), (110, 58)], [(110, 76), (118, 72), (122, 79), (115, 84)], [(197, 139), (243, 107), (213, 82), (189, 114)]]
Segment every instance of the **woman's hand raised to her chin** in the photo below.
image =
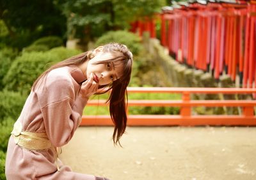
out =
[(89, 98), (97, 92), (98, 87), (99, 83), (93, 80), (93, 73), (91, 73), (90, 77), (81, 85), (80, 94), (83, 98)]

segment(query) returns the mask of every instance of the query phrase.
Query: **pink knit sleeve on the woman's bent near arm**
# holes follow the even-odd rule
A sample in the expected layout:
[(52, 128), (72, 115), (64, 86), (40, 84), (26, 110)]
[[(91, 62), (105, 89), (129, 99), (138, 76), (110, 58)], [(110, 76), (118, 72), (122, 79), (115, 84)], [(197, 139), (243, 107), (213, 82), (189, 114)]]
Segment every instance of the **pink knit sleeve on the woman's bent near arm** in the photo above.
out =
[(72, 139), (88, 99), (76, 97), (70, 77), (49, 75), (39, 89), (45, 131), (53, 146), (61, 147)]

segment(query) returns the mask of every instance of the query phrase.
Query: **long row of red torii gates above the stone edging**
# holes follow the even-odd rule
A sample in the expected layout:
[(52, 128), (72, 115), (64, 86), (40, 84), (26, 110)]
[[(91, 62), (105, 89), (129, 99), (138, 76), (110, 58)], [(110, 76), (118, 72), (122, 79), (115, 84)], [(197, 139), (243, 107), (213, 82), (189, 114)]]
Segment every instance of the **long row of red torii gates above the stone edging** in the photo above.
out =
[(243, 87), (256, 86), (255, 1), (193, 3), (161, 14), (161, 44), (180, 63), (211, 69), (215, 79), (237, 72)]

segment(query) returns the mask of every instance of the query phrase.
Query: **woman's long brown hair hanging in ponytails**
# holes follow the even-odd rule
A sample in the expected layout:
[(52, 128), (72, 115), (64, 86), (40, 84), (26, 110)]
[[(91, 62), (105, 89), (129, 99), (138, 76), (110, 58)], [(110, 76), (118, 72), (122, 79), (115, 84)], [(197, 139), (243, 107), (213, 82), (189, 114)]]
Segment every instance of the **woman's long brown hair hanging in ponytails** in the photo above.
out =
[[(120, 43), (108, 43), (106, 45), (103, 45), (103, 52), (111, 52), (113, 53), (113, 55), (116, 54), (116, 57), (113, 59), (100, 61), (97, 64), (113, 62), (114, 64), (121, 63), (123, 66), (123, 73), (120, 79), (113, 81), (111, 84), (108, 84), (107, 86), (100, 86), (100, 91), (97, 93), (103, 94), (111, 90), (108, 101), (110, 116), (113, 123), (115, 124), (115, 129), (113, 132), (113, 142), (114, 144), (120, 144), (119, 140), (125, 132), (127, 123), (127, 86), (131, 79), (132, 53), (129, 51), (129, 49), (127, 49), (125, 45), (122, 45)], [(47, 77), (47, 74), (51, 70), (63, 66), (82, 64), (89, 59), (88, 55), (91, 53), (92, 51), (84, 52), (77, 56), (65, 59), (64, 61), (61, 61), (57, 64), (54, 64), (53, 66), (51, 66), (51, 68), (44, 71), (44, 73), (42, 73), (40, 77), (38, 77), (38, 79), (36, 79), (33, 86), (31, 87), (31, 90), (34, 91), (36, 84), (38, 84), (39, 80)]]

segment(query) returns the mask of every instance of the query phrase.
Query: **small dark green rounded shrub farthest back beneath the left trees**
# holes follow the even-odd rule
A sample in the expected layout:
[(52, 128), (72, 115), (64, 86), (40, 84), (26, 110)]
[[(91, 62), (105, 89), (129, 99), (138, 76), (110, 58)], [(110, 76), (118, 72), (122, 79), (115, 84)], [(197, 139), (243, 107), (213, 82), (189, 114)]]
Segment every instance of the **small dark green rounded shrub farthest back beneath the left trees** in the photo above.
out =
[(63, 45), (63, 41), (58, 36), (47, 36), (40, 38), (32, 43), (32, 45), (45, 45), (49, 49)]

